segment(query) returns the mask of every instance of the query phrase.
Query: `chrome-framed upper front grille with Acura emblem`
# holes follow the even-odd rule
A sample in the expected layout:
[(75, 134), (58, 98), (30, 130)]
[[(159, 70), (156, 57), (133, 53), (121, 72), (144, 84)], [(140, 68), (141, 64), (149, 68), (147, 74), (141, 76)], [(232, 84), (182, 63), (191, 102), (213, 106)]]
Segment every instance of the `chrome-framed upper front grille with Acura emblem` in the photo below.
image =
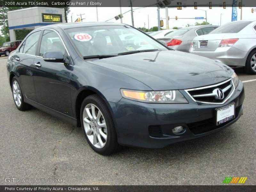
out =
[[(224, 97), (218, 98), (217, 89), (220, 89)], [(194, 89), (185, 90), (188, 95), (196, 102), (211, 103), (211, 104), (223, 104), (225, 103), (235, 91), (234, 84), (231, 79), (223, 81), (219, 84), (199, 87)]]

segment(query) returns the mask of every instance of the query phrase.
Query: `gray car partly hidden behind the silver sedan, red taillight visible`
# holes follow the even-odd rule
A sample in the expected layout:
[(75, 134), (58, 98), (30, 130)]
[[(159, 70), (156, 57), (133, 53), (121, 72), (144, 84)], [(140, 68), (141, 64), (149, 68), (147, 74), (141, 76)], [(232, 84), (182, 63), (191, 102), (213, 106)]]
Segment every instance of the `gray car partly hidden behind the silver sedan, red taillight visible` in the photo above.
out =
[(215, 25), (197, 25), (180, 28), (167, 34), (164, 38), (156, 39), (164, 41), (168, 47), (174, 50), (189, 52), (190, 44), (196, 36), (208, 34), (216, 28), (218, 28), (218, 26)]

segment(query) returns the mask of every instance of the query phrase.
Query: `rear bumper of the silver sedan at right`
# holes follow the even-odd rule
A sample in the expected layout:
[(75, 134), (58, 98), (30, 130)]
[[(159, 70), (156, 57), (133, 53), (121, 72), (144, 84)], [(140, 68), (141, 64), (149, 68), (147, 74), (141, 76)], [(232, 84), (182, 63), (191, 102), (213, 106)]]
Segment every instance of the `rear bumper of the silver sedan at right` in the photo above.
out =
[(228, 66), (245, 66), (247, 52), (241, 51), (235, 47), (218, 47), (215, 51), (194, 51), (193, 47), (190, 53), (220, 61)]

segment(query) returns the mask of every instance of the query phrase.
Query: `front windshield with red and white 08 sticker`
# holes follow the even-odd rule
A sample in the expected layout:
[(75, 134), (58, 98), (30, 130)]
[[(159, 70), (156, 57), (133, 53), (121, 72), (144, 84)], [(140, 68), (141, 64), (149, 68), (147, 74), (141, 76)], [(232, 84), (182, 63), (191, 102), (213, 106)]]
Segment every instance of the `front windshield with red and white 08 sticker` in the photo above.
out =
[(66, 32), (84, 58), (168, 50), (139, 30), (126, 25), (70, 28)]

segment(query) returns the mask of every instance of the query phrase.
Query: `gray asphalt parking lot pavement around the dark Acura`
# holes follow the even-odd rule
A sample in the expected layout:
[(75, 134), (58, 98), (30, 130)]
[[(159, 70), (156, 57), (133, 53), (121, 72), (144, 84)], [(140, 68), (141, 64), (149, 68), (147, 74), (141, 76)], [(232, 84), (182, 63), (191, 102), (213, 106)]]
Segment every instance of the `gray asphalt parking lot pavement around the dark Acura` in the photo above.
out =
[[(242, 81), (256, 79), (235, 69)], [(244, 115), (221, 132), (162, 149), (124, 147), (95, 153), (81, 128), (36, 108), (19, 111), (12, 99), (6, 57), (0, 57), (0, 185), (5, 178), (61, 179), (40, 185), (223, 185), (225, 177), (256, 184), (256, 81), (244, 83)], [(7, 179), (8, 181), (8, 179)], [(21, 180), (22, 181), (22, 180)]]

